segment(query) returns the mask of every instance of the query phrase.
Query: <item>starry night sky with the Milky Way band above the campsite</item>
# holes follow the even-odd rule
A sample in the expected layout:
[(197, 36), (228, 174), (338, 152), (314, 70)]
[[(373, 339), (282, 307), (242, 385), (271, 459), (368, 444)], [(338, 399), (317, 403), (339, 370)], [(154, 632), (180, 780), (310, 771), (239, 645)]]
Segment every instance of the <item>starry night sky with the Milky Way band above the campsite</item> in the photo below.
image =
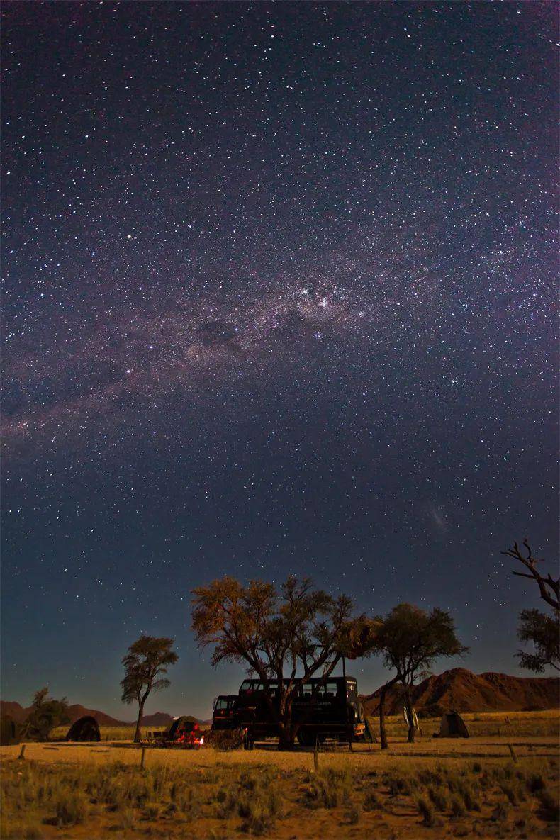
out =
[(242, 670), (190, 590), (226, 573), (448, 608), (471, 654), (437, 670), (521, 673), (500, 549), (557, 549), (556, 10), (3, 3), (3, 698), (133, 717), (144, 632), (181, 657), (147, 711), (207, 716)]

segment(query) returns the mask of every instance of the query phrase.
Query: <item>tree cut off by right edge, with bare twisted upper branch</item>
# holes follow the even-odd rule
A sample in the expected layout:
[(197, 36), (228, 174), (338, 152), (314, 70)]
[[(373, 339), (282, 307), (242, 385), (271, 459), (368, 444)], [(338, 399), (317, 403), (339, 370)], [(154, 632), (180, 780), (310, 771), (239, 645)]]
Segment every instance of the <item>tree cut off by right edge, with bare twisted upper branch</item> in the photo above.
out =
[(529, 654), (520, 650), (516, 655), (521, 662), (521, 667), (542, 674), (547, 667), (560, 670), (560, 578), (554, 579), (550, 572), (543, 577), (536, 568), (537, 563), (542, 559), (533, 557), (531, 546), (526, 539), (523, 540), (526, 554), (523, 554), (519, 545), (513, 543), (513, 548), (502, 551), (508, 557), (513, 557), (522, 563), (527, 572), (512, 571), (517, 577), (535, 580), (538, 586), (542, 601), (551, 607), (552, 614), (547, 615), (540, 610), (522, 610), (517, 635), (521, 642), (532, 642), (534, 653)]

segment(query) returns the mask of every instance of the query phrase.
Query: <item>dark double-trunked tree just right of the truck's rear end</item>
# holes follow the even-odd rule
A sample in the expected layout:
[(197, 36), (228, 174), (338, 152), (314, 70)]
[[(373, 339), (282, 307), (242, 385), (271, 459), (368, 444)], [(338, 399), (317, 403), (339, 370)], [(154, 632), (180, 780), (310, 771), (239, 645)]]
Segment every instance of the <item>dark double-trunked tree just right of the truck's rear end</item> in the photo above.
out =
[(379, 735), (381, 749), (387, 749), (385, 732), (385, 696), (391, 686), (400, 683), (405, 690), (408, 713), (408, 740), (414, 741), (411, 710), (411, 686), (422, 671), (430, 668), (440, 656), (457, 656), (468, 651), (459, 642), (448, 612), (421, 610), (411, 604), (394, 606), (385, 618), (376, 619), (374, 649), (383, 656), (386, 668), (395, 675), (381, 689), (379, 696)]

